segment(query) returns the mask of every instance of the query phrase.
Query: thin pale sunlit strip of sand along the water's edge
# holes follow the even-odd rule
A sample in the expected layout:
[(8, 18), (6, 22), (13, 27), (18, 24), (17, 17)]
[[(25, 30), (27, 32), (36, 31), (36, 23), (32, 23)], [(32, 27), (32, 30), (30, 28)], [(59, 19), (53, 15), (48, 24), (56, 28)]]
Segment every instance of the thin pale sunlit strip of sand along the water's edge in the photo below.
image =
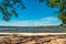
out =
[(19, 35), (58, 35), (58, 34), (66, 34), (66, 33), (0, 33), (0, 34), (19, 34)]

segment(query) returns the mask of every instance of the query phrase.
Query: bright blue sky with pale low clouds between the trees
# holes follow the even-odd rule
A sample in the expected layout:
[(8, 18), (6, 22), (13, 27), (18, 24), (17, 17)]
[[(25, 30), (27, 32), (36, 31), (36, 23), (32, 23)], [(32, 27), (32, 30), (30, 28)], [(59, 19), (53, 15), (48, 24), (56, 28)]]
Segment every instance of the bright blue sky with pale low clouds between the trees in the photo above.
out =
[(54, 11), (58, 8), (50, 8), (45, 3), (40, 3), (35, 0), (23, 0), (26, 9), (16, 9), (19, 18), (12, 16), (10, 21), (2, 20), (0, 12), (0, 25), (4, 26), (44, 26), (44, 25), (59, 25), (61, 20)]

